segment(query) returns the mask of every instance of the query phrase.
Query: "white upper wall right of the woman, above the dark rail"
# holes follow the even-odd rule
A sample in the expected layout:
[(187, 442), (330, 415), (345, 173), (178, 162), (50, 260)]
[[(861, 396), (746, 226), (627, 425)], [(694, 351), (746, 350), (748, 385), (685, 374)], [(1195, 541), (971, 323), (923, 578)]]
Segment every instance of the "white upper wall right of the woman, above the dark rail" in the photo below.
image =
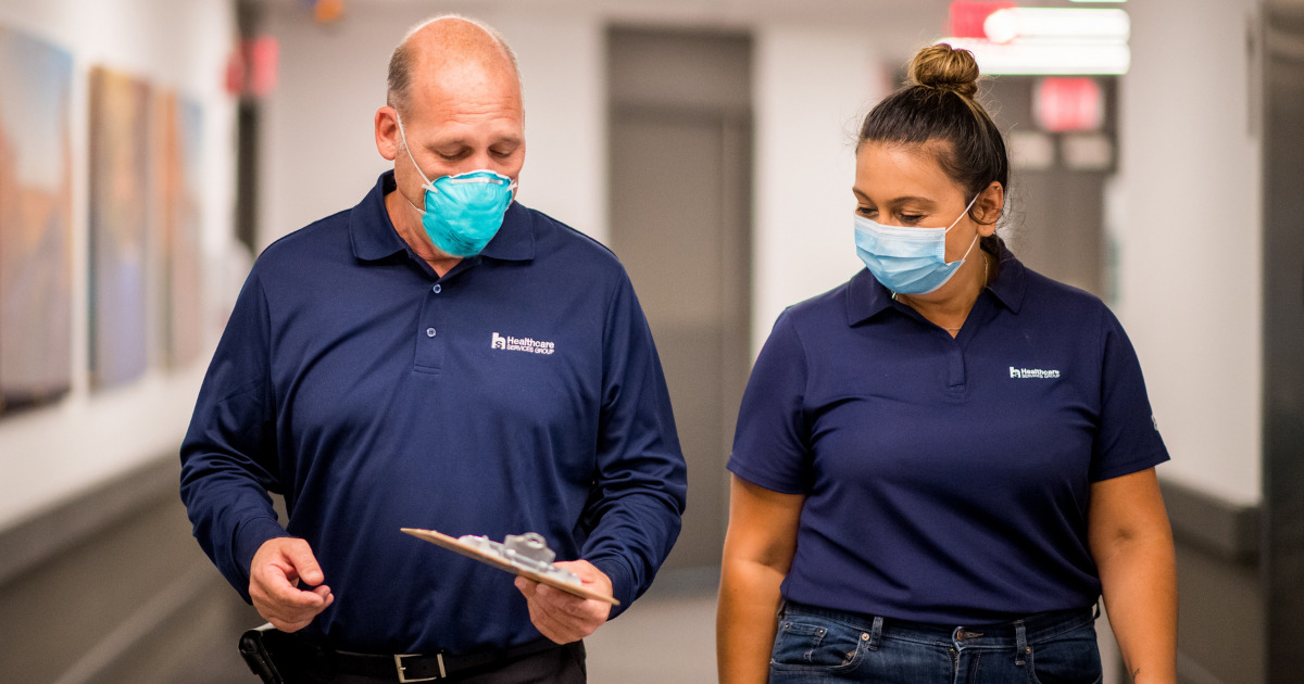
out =
[(1261, 173), (1254, 0), (1128, 3), (1116, 306), (1172, 463), (1163, 477), (1261, 498)]

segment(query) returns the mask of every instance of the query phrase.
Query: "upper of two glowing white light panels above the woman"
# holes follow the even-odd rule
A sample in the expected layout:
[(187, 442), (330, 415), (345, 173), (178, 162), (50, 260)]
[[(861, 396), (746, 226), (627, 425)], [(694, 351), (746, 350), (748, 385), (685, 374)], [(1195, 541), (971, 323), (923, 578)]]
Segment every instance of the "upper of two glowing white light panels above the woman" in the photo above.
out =
[(992, 12), (983, 22), (987, 38), (1009, 43), (1016, 38), (1128, 40), (1132, 22), (1121, 9), (1017, 7)]

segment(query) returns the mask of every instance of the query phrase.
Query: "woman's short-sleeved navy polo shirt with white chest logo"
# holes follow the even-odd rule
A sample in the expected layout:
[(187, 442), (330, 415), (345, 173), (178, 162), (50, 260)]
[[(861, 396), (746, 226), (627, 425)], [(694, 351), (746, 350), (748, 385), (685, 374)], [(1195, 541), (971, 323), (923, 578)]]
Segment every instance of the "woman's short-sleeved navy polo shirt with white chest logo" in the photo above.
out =
[(784, 311), (729, 469), (806, 496), (788, 599), (975, 624), (1094, 603), (1091, 483), (1167, 459), (1119, 322), (1004, 251), (955, 339), (868, 271)]

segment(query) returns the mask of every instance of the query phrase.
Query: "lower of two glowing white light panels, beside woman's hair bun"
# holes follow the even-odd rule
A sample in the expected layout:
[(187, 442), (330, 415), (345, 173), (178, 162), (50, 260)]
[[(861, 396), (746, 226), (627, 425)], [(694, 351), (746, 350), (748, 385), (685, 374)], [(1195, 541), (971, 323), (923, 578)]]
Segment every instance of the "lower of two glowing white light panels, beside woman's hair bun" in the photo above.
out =
[(1125, 74), (1132, 63), (1127, 43), (1015, 39), (992, 43), (981, 38), (943, 38), (957, 50), (968, 50), (986, 74)]

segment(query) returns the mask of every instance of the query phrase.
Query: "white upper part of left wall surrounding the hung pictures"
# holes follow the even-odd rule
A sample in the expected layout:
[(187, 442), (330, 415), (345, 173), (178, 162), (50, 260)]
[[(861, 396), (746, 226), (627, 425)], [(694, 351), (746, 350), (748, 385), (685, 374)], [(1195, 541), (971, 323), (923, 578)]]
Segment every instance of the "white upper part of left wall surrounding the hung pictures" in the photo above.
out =
[[(0, 0), (0, 23), (73, 55), (73, 387), (60, 403), (0, 420), (0, 529), (134, 465), (175, 452), (203, 362), (91, 393), (87, 386), (87, 73), (106, 65), (203, 106), (203, 250), (220, 283), (235, 188), (235, 109), (223, 69), (235, 34), (223, 0)], [(227, 298), (210, 293), (209, 301)], [(220, 322), (211, 321), (210, 341)]]

